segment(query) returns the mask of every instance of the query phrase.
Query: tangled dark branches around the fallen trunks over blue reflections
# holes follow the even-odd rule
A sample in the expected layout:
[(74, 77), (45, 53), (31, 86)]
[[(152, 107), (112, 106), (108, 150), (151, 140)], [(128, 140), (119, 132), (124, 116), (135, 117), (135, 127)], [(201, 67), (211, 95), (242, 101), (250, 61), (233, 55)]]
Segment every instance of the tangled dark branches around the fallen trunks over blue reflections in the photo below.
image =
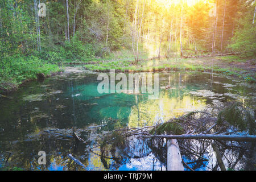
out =
[[(154, 134), (180, 135), (185, 134), (184, 131), (192, 134), (232, 134), (238, 136), (245, 135), (247, 132), (254, 134), (254, 120), (251, 116), (248, 116), (249, 112), (242, 110), (242, 108), (240, 104), (235, 103), (222, 110), (224, 112), (220, 112), (220, 108), (214, 108), (213, 114), (206, 111), (195, 111), (183, 117), (170, 119), (167, 123), (156, 126), (156, 129), (148, 130), (148, 127), (145, 127), (141, 130), (134, 129), (134, 132), (131, 130), (121, 131), (119, 136), (117, 133), (108, 139), (109, 141), (112, 139), (108, 147), (101, 147), (101, 159), (104, 163), (105, 156), (108, 155), (109, 158), (112, 156), (115, 161), (114, 167), (118, 168), (125, 162), (129, 163), (129, 160), (125, 160), (126, 158), (143, 158), (152, 152), (155, 158), (166, 166), (166, 138), (154, 137)], [(224, 115), (221, 115), (223, 113)], [(234, 121), (234, 118), (229, 120), (227, 113), (235, 117), (236, 121)], [(222, 121), (220, 121), (220, 118), (222, 118)], [(151, 135), (151, 137), (143, 138), (142, 135)], [(216, 160), (216, 149), (213, 149), (213, 146), (216, 145), (224, 163), (224, 168), (255, 170), (255, 142), (218, 139), (179, 139), (178, 141), (184, 167), (187, 169), (220, 169), (220, 164)], [(110, 151), (111, 154), (107, 151)], [(111, 166), (105, 165), (105, 168), (111, 168)]]

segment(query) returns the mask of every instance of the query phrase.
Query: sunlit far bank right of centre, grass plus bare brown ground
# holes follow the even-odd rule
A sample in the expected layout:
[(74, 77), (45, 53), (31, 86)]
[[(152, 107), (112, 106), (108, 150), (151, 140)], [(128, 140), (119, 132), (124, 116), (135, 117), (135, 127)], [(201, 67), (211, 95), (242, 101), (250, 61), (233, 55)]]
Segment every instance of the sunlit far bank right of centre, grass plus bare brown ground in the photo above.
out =
[(197, 71), (222, 73), (226, 76), (242, 78), (245, 81), (255, 82), (255, 67), (251, 57), (220, 56), (220, 57), (198, 57), (193, 59), (150, 59), (139, 61), (134, 64), (133, 57), (115, 60), (101, 61), (97, 64), (85, 64), (84, 67), (90, 71), (108, 72), (115, 69), (116, 72), (157, 72), (157, 71)]

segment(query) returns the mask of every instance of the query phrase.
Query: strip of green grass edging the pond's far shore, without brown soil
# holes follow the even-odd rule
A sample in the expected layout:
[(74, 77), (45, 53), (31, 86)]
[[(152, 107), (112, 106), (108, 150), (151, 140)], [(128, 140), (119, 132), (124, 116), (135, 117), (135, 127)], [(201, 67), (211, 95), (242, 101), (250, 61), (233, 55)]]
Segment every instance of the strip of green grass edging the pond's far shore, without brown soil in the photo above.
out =
[[(236, 56), (225, 56), (226, 60), (234, 60), (237, 58)], [(225, 76), (233, 76), (241, 78), (248, 82), (255, 82), (254, 75), (250, 73), (241, 73), (243, 69), (236, 67), (219, 67), (217, 65), (204, 65), (192, 63), (188, 61), (188, 59), (161, 59), (160, 61), (155, 60), (142, 60), (139, 61), (137, 65), (132, 64), (133, 61), (128, 60), (115, 60), (108, 62), (101, 62), (99, 64), (87, 64), (85, 65), (86, 69), (91, 71), (106, 71), (109, 69), (115, 69), (118, 71), (129, 71), (129, 72), (148, 72), (148, 71), (163, 71), (163, 70), (171, 70), (171, 71), (196, 71), (196, 72), (214, 72), (214, 73), (222, 73)]]

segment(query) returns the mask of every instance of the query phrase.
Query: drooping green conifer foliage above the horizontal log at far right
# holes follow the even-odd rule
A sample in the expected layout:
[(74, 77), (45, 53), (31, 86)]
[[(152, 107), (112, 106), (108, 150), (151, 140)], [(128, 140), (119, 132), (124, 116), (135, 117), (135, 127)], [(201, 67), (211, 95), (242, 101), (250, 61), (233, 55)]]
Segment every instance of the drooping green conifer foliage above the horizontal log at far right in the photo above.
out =
[(239, 102), (232, 102), (224, 110), (218, 113), (217, 123), (223, 125), (228, 122), (240, 130), (249, 129), (250, 134), (255, 133), (255, 122), (253, 115)]

